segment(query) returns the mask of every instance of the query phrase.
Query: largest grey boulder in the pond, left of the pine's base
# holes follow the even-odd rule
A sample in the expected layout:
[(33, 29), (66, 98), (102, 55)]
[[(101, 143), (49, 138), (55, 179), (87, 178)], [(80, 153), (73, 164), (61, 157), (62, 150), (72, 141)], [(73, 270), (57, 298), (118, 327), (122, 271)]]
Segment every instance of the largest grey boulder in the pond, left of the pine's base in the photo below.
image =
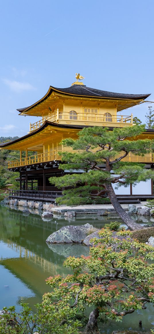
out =
[(71, 243), (79, 242), (82, 243), (88, 234), (91, 234), (91, 231), (97, 230), (93, 225), (85, 224), (79, 226), (63, 226), (58, 231), (53, 232), (48, 236), (46, 242), (49, 243)]

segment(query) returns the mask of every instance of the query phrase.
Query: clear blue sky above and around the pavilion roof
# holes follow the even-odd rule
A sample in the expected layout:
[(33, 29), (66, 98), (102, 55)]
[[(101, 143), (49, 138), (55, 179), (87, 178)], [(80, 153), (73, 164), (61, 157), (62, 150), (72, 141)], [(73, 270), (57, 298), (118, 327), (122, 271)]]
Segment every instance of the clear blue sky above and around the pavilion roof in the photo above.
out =
[[(0, 11), (0, 136), (23, 136), (33, 117), (18, 116), (49, 86), (146, 94), (154, 101), (154, 1), (6, 0)], [(123, 115), (145, 122), (149, 104)], [(154, 109), (154, 104), (152, 104)]]

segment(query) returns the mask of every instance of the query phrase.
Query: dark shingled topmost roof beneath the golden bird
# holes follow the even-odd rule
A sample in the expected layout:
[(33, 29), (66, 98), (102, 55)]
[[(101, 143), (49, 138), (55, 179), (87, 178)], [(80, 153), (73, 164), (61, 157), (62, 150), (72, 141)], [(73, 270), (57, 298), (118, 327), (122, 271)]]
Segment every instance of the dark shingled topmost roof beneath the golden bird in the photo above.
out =
[(42, 101), (46, 100), (52, 92), (61, 92), (65, 95), (74, 95), (74, 96), (87, 96), (92, 98), (107, 98), (107, 99), (128, 99), (128, 100), (145, 100), (150, 94), (123, 94), (123, 93), (113, 93), (101, 91), (100, 89), (86, 87), (85, 85), (72, 85), (67, 88), (56, 88), (50, 86), (47, 94), (38, 102), (30, 107), (25, 107), (17, 109), (20, 113), (29, 108), (34, 108), (36, 105), (40, 104)]

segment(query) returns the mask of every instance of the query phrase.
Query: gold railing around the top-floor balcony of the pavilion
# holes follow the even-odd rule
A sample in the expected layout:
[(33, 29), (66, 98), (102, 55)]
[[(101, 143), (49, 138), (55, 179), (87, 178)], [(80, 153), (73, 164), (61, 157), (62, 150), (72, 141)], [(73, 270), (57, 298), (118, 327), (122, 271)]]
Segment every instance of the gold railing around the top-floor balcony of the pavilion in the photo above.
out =
[(99, 125), (105, 125), (105, 126), (113, 126), (115, 124), (124, 124), (124, 125), (132, 125), (133, 124), (133, 114), (130, 116), (119, 116), (119, 115), (111, 115), (105, 116), (105, 115), (99, 115), (99, 114), (88, 114), (88, 113), (76, 113), (76, 115), (69, 115), (69, 112), (60, 112), (57, 110), (57, 112), (54, 112), (51, 114), (51, 116), (44, 117), (40, 121), (37, 121), (33, 124), (30, 123), (30, 132), (37, 130), (40, 128), (40, 126), (45, 122), (70, 122), (70, 123), (82, 123), (82, 122), (90, 122), (99, 123)]

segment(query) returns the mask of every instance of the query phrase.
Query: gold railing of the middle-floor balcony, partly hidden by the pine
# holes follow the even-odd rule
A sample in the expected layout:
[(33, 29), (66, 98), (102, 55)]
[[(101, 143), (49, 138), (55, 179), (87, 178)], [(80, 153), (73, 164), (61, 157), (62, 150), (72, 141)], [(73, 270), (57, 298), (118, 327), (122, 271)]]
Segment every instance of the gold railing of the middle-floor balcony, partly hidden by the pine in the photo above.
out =
[[(58, 150), (53, 150), (45, 153), (38, 153), (14, 161), (9, 161), (8, 168), (33, 165), (41, 162), (48, 162), (54, 160), (61, 160), (61, 156), (58, 154), (58, 152), (59, 152)], [(69, 151), (69, 152), (74, 152), (74, 151)], [(123, 159), (123, 161), (154, 163), (154, 153), (147, 153), (143, 157), (129, 153), (128, 156)]]

